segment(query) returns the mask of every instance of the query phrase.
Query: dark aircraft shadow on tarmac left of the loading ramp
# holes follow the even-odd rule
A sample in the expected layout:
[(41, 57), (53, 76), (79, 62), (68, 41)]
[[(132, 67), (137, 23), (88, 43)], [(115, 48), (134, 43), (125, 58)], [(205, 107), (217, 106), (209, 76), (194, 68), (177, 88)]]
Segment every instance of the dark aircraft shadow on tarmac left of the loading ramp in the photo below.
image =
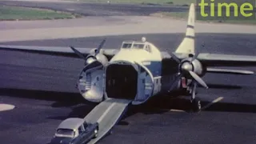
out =
[(50, 106), (70, 107), (71, 112), (65, 115), (48, 117), (49, 119), (64, 120), (66, 118), (84, 118), (98, 103), (88, 102), (78, 93), (56, 92), (45, 90), (23, 90), (0, 88), (0, 95), (6, 95), (17, 98), (30, 98), (38, 100), (46, 100), (53, 102)]

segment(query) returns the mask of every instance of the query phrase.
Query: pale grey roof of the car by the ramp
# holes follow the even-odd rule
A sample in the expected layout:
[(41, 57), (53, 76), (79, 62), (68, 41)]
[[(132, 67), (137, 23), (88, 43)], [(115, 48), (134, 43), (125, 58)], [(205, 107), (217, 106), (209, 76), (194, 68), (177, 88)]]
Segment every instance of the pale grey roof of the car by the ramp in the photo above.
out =
[(82, 118), (67, 118), (58, 125), (58, 129), (76, 130), (83, 122), (85, 122), (85, 120)]

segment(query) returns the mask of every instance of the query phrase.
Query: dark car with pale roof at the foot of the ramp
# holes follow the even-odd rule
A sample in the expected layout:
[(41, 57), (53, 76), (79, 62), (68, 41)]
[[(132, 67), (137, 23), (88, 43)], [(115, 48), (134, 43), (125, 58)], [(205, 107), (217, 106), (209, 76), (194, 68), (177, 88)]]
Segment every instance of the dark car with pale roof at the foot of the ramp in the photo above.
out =
[(82, 144), (98, 136), (98, 122), (86, 122), (82, 118), (67, 118), (61, 122), (51, 139), (51, 144)]

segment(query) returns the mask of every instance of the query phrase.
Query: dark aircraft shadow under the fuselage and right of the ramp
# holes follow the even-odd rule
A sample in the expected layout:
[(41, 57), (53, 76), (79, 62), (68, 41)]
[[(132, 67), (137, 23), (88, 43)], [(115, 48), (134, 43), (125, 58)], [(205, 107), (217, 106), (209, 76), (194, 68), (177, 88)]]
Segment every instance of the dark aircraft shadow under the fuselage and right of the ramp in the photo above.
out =
[[(231, 103), (231, 102), (217, 102), (204, 109), (204, 106), (210, 104), (210, 102), (201, 101), (202, 112), (203, 111), (220, 111), (220, 112), (240, 112), (240, 113), (256, 113), (256, 105)], [(170, 110), (183, 110), (185, 112), (193, 112), (190, 109), (189, 98), (170, 98), (170, 97), (158, 97), (151, 98), (145, 104), (139, 106), (130, 106), (124, 114), (124, 117), (118, 122), (118, 125), (126, 126), (129, 122), (126, 122), (126, 118), (134, 114), (163, 114), (170, 112)]]

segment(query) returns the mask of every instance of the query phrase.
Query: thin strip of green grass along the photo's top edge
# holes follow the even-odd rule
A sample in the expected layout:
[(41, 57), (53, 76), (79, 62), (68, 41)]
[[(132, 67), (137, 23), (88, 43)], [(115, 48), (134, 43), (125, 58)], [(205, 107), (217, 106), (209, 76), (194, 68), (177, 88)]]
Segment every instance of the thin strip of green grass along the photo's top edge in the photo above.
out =
[[(78, 0), (73, 0), (78, 1)], [(174, 4), (174, 5), (190, 5), (196, 0), (79, 0), (79, 2), (108, 2), (110, 3), (131, 3), (131, 4)]]

